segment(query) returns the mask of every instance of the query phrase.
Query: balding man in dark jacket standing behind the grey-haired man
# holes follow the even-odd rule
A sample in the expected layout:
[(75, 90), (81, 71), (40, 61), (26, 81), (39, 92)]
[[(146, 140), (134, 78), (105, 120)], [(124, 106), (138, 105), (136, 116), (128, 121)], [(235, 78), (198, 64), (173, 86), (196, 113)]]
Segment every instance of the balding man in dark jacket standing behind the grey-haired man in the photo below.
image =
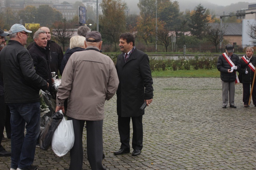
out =
[[(47, 35), (47, 46), (46, 48), (49, 49), (48, 53), (48, 59), (51, 67), (51, 71), (56, 73), (56, 78), (58, 78), (58, 70), (60, 75), (62, 75), (61, 72), (61, 62), (63, 59), (63, 51), (61, 47), (55, 43), (54, 41), (51, 40), (51, 32), (48, 27), (41, 27), (38, 29), (38, 31), (44, 31)], [(34, 43), (29, 44), (27, 49), (29, 50)]]

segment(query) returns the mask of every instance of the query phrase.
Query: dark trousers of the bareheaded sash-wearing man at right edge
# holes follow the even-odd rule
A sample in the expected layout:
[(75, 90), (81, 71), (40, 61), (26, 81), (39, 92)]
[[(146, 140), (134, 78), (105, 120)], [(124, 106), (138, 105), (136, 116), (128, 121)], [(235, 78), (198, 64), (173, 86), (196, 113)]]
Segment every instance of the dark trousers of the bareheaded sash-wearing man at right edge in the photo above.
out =
[[(250, 94), (251, 94), (250, 86), (252, 87), (252, 83), (243, 83), (243, 102), (244, 102), (244, 105), (248, 105), (248, 103), (249, 103), (249, 98), (250, 98)], [(253, 104), (256, 105), (256, 86), (255, 86), (255, 84), (253, 86), (252, 98), (253, 98)]]

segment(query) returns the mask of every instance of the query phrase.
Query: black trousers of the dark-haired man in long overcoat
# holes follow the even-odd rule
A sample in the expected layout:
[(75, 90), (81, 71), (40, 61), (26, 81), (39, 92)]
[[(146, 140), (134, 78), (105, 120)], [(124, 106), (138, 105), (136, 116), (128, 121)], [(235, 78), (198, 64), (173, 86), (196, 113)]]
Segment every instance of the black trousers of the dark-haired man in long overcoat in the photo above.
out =
[(142, 150), (143, 147), (143, 124), (142, 116), (120, 117), (118, 116), (118, 131), (120, 135), (121, 149), (130, 148), (130, 120), (132, 120), (132, 148)]

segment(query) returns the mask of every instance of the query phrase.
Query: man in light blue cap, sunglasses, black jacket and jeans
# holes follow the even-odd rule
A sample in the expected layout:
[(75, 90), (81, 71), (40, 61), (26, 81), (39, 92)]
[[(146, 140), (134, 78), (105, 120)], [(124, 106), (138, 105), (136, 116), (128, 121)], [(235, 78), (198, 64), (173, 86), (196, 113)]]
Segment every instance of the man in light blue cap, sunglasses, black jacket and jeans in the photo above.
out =
[(0, 52), (4, 99), (11, 110), (11, 170), (38, 169), (32, 163), (40, 131), (39, 90), (46, 90), (48, 83), (35, 73), (33, 60), (24, 47), (28, 33), (31, 31), (23, 25), (14, 24), (9, 31), (11, 40)]

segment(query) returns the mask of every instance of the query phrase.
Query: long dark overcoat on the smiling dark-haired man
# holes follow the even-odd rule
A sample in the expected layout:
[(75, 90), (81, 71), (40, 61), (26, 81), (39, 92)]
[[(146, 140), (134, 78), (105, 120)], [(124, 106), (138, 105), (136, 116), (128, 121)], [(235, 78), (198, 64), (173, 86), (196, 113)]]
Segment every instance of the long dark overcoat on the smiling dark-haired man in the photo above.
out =
[(124, 62), (124, 53), (118, 55), (116, 63), (119, 86), (117, 94), (117, 114), (121, 117), (138, 117), (144, 99), (153, 98), (153, 79), (148, 56), (135, 48)]

